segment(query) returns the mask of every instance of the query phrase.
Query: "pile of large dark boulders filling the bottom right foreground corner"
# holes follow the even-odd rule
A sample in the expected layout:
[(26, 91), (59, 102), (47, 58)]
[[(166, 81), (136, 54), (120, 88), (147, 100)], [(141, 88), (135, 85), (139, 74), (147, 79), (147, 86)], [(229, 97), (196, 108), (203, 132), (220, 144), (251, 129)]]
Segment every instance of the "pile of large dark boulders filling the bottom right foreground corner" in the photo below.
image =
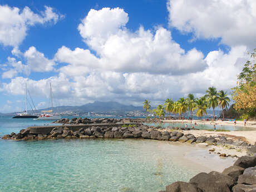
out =
[(177, 181), (159, 192), (255, 192), (256, 156), (242, 156), (222, 173), (199, 173), (189, 183)]

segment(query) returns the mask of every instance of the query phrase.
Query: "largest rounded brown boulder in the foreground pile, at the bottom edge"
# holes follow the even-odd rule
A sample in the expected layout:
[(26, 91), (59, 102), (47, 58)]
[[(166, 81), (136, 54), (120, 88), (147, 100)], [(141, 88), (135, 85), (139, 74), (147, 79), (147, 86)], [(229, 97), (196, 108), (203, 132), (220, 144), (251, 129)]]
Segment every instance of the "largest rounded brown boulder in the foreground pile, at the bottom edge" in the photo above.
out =
[(211, 171), (207, 173), (199, 173), (189, 181), (190, 184), (198, 186), (205, 192), (230, 192), (230, 187), (235, 184), (231, 176)]

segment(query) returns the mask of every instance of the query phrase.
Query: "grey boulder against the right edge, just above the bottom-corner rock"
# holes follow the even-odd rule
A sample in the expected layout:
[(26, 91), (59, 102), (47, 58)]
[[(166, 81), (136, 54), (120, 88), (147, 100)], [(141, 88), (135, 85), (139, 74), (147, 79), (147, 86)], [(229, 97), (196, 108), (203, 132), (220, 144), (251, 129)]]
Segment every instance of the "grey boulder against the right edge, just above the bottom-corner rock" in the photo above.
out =
[(247, 168), (244, 170), (244, 174), (238, 178), (238, 184), (256, 184), (256, 168)]

